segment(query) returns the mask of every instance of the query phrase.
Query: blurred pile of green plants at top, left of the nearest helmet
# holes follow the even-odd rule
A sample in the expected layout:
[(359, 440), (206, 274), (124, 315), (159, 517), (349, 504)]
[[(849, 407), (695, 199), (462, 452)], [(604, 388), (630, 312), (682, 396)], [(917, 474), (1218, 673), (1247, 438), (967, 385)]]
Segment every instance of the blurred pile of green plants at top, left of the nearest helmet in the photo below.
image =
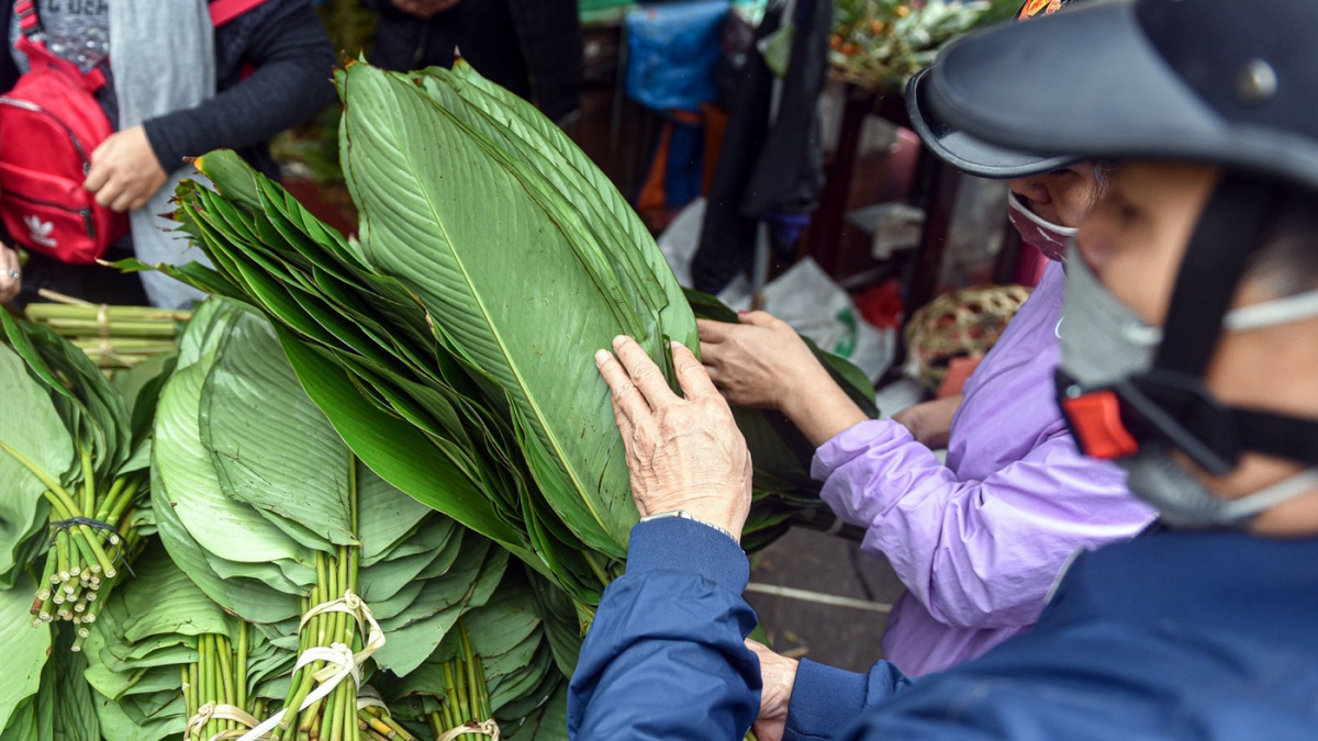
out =
[(1020, 0), (834, 0), (829, 62), (846, 82), (902, 94), (945, 45), (1019, 7)]

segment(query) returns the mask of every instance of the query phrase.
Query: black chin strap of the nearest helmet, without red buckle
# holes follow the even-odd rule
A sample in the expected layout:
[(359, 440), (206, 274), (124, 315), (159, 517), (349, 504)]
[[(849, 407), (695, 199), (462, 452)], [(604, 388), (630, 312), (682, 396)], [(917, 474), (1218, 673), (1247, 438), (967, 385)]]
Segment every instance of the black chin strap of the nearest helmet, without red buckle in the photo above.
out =
[(1214, 476), (1235, 469), (1244, 451), (1318, 465), (1318, 419), (1226, 406), (1203, 384), (1280, 194), (1264, 179), (1223, 177), (1181, 262), (1152, 368), (1102, 390), (1115, 394), (1119, 427), (1133, 442), (1178, 448)]

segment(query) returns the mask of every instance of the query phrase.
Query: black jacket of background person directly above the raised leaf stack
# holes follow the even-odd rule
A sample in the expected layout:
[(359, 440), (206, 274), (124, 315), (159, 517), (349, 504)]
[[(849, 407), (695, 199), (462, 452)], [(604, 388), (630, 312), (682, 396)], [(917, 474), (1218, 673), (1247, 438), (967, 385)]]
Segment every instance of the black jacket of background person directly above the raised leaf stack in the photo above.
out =
[(449, 67), (453, 47), (490, 80), (534, 103), (551, 120), (581, 104), (585, 61), (577, 0), (463, 0), (430, 20), (390, 0), (380, 12), (370, 61), (387, 70)]

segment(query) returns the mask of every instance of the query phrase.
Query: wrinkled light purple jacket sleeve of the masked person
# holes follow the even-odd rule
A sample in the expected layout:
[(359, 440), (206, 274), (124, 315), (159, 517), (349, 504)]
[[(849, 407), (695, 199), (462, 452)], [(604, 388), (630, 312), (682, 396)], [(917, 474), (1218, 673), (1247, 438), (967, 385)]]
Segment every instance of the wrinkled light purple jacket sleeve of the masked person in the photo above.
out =
[(1075, 548), (1152, 518), (1119, 469), (1086, 460), (1065, 432), (960, 480), (902, 425), (862, 422), (816, 452), (812, 475), (837, 516), (866, 529), (866, 552), (884, 554), (936, 620), (962, 629), (1033, 624)]

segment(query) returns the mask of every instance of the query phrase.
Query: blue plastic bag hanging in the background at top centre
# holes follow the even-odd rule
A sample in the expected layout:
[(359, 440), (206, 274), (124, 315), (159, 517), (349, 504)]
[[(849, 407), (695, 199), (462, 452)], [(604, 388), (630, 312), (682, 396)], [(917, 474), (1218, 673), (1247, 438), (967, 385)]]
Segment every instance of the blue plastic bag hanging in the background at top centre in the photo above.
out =
[(655, 111), (700, 111), (718, 98), (720, 29), (730, 0), (627, 13), (627, 96)]

